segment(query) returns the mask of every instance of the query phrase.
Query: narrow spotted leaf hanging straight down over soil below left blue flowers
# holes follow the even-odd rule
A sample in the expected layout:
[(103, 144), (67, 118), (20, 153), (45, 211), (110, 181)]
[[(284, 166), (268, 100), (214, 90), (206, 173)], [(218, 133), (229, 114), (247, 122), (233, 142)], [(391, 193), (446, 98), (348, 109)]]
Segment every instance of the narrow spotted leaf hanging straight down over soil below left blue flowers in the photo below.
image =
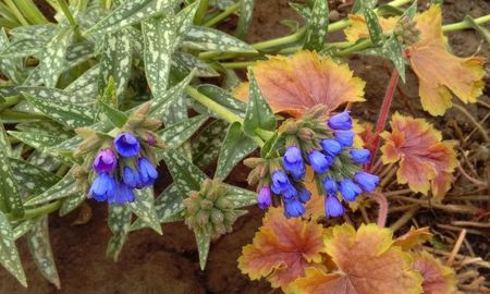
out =
[(127, 232), (131, 225), (131, 217), (133, 212), (128, 205), (109, 206), (108, 224), (112, 232), (112, 236), (109, 240), (106, 255), (112, 257), (114, 261), (118, 261), (119, 254), (127, 240)]

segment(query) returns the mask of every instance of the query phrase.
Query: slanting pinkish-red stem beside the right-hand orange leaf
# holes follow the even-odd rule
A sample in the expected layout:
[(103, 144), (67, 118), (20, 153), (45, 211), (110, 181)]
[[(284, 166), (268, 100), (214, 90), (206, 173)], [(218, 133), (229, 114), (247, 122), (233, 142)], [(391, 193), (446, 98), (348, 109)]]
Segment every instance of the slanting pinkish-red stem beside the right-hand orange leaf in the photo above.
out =
[(396, 84), (399, 83), (399, 71), (393, 69), (391, 73), (390, 83), (388, 84), (387, 93), (384, 94), (383, 103), (381, 106), (381, 111), (378, 117), (378, 122), (376, 123), (376, 137), (372, 142), (372, 146), (370, 149), (371, 160), (367, 164), (367, 170), (370, 171), (372, 168), (372, 163), (376, 160), (376, 154), (379, 149), (379, 143), (381, 140), (380, 134), (384, 130), (387, 125), (388, 114), (390, 113), (391, 102), (393, 101), (394, 91), (396, 89)]

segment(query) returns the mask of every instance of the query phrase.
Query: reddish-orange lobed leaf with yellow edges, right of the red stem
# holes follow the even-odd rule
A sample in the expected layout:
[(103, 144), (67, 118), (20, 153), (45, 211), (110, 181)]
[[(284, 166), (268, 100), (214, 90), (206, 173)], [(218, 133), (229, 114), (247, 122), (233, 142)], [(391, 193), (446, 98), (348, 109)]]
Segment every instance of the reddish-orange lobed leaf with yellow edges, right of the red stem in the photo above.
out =
[(383, 132), (381, 147), (384, 164), (400, 161), (397, 182), (408, 183), (414, 192), (431, 189), (441, 200), (451, 187), (453, 171), (457, 167), (453, 146), (442, 142), (441, 133), (422, 119), (393, 114), (391, 133)]

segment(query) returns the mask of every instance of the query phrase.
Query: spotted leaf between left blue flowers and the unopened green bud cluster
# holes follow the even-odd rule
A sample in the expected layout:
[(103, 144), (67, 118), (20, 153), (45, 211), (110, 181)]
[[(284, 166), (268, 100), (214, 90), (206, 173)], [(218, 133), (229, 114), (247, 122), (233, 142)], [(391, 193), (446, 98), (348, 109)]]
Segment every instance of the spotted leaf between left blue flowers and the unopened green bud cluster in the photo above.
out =
[[(182, 220), (182, 212), (184, 211), (182, 199), (183, 198), (174, 184), (168, 186), (155, 199), (155, 209), (160, 223)], [(130, 231), (137, 231), (144, 228), (148, 228), (148, 225), (143, 220), (137, 219), (131, 225)]]

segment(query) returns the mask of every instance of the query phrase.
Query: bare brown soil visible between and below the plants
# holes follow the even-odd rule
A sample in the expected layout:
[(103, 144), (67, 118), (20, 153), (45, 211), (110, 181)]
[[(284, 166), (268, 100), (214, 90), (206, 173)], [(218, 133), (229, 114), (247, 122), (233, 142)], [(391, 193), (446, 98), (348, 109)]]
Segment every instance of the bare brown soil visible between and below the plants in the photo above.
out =
[[(289, 28), (279, 24), (279, 21), (298, 20), (298, 17), (289, 8), (287, 2), (286, 0), (256, 1), (255, 19), (248, 40), (258, 41), (289, 34)], [(341, 9), (339, 11), (341, 14), (344, 12)], [(477, 17), (489, 12), (490, 2), (485, 0), (444, 1), (445, 23), (460, 21), (466, 14)], [(342, 35), (336, 33), (330, 36), (330, 39), (339, 40), (341, 37)], [(489, 46), (482, 45), (481, 37), (474, 30), (451, 33), (449, 39), (456, 54), (490, 56)], [(364, 103), (363, 109), (355, 111), (365, 120), (372, 121), (381, 103), (391, 65), (389, 62), (373, 58), (353, 58), (351, 65), (356, 74), (367, 82), (367, 102)], [(417, 93), (416, 78), (407, 73), (407, 84), (402, 85), (401, 91), (396, 94), (394, 109), (430, 118), (421, 110)], [(489, 84), (487, 83), (486, 95), (481, 99), (490, 103), (488, 93)], [(482, 119), (488, 112), (477, 106), (468, 107), (468, 109), (477, 119)], [(430, 118), (430, 120), (444, 130), (450, 137), (454, 135), (453, 128), (448, 126), (449, 121), (457, 121), (463, 131), (470, 130), (467, 119), (454, 110), (442, 118)], [(478, 142), (478, 135), (474, 139)], [(244, 179), (246, 179), (246, 172), (238, 169), (229, 181), (243, 185)], [(242, 247), (252, 242), (255, 231), (260, 225), (262, 212), (255, 207), (249, 209), (249, 215), (242, 217), (235, 223), (233, 233), (213, 243), (207, 268), (201, 272), (198, 267), (194, 235), (181, 222), (163, 225), (162, 236), (149, 230), (132, 233), (120, 256), (120, 261), (113, 262), (105, 256), (110, 237), (107, 226), (107, 208), (94, 203), (89, 205), (93, 208), (93, 218), (86, 224), (71, 225), (76, 218), (76, 212), (64, 218), (57, 216), (50, 218), (52, 249), (62, 286), (60, 291), (40, 275), (25, 242), (20, 241), (17, 244), (29, 287), (23, 289), (14, 278), (0, 269), (0, 293), (252, 294), (271, 291), (267, 282), (252, 282), (236, 268), (236, 259)]]

